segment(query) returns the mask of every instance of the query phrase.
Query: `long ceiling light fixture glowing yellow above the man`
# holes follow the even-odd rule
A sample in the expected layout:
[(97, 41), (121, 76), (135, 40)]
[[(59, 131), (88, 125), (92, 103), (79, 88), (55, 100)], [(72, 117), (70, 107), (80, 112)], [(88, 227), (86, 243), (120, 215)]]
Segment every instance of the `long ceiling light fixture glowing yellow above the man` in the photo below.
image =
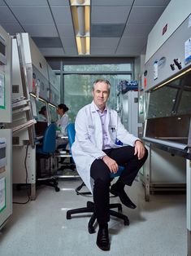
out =
[(90, 0), (70, 0), (79, 55), (89, 55)]

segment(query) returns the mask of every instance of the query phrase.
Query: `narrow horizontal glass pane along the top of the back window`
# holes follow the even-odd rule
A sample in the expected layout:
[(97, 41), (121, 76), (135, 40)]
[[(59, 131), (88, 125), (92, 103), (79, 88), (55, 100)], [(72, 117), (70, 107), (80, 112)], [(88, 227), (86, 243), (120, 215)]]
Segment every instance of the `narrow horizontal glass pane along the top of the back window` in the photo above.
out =
[(64, 71), (132, 71), (132, 64), (64, 65)]

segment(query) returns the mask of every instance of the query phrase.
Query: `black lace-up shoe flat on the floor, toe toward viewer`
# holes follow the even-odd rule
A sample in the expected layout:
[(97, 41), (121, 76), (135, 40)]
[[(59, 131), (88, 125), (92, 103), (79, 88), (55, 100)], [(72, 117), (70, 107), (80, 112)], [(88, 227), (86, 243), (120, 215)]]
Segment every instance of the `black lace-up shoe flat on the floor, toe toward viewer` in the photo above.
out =
[(96, 244), (102, 250), (110, 250), (108, 227), (99, 227)]

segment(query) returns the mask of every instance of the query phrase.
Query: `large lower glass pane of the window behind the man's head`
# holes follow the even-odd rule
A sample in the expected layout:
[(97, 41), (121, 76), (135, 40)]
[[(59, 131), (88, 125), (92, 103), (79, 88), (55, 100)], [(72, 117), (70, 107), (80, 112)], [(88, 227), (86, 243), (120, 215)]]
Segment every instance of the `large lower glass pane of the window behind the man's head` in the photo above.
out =
[(64, 104), (69, 108), (70, 121), (75, 121), (76, 114), (85, 104), (93, 100), (92, 87), (96, 79), (104, 78), (111, 82), (111, 95), (108, 105), (117, 109), (117, 86), (121, 80), (131, 80), (130, 75), (64, 75)]

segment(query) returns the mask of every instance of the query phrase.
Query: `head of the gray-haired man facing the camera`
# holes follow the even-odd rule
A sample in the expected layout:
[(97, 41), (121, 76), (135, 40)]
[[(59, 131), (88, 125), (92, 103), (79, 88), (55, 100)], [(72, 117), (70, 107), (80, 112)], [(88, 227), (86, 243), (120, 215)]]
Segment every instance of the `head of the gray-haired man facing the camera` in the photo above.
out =
[(103, 110), (110, 95), (109, 86), (105, 82), (97, 82), (92, 91), (92, 95), (94, 104), (96, 104), (99, 109)]

